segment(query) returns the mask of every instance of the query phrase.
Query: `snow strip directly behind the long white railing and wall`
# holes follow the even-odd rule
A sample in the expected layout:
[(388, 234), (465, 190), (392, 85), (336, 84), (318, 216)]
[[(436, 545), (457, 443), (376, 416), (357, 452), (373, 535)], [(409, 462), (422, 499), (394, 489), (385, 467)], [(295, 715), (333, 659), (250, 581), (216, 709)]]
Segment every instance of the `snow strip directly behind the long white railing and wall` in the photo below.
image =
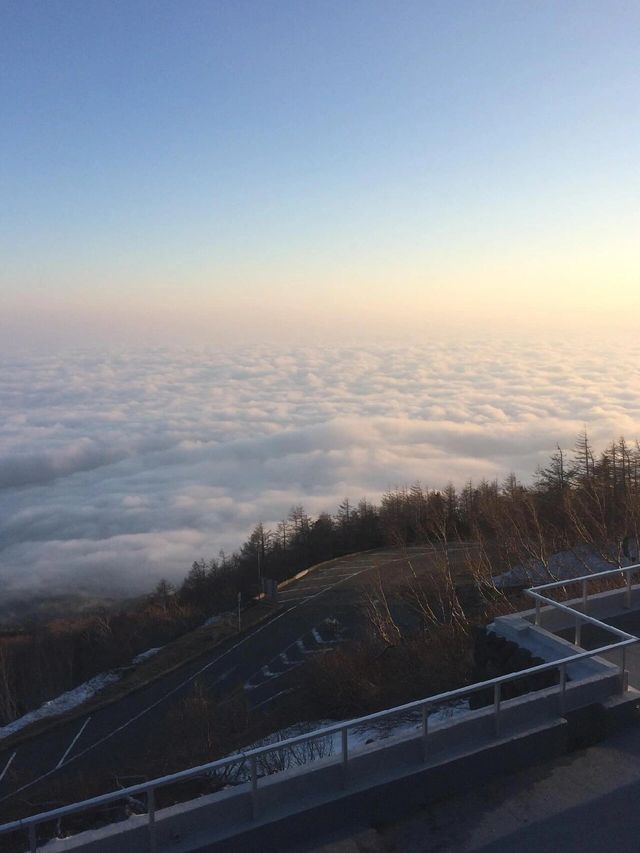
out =
[[(429, 714), (429, 723), (441, 723), (455, 720), (470, 713), (467, 700), (461, 700), (446, 706), (442, 706)], [(309, 734), (329, 726), (336, 725), (335, 720), (316, 720), (311, 723), (295, 723), (286, 729), (280, 729), (267, 737), (256, 741), (246, 747), (246, 750), (258, 749), (262, 746), (276, 745), (289, 738)], [(381, 720), (354, 724), (347, 732), (349, 753), (356, 753), (367, 749), (372, 744), (388, 738), (409, 738), (422, 729), (422, 711), (407, 711), (394, 714)], [(311, 761), (337, 755), (342, 749), (342, 735), (340, 732), (319, 737), (315, 741), (298, 744), (283, 749), (274, 750), (272, 753), (258, 759), (258, 774), (261, 776), (281, 770), (298, 767)], [(240, 759), (242, 762), (242, 759)], [(249, 779), (250, 770), (244, 763), (239, 763), (228, 768), (220, 774), (228, 784), (240, 784)], [(215, 775), (215, 774), (214, 774)]]

